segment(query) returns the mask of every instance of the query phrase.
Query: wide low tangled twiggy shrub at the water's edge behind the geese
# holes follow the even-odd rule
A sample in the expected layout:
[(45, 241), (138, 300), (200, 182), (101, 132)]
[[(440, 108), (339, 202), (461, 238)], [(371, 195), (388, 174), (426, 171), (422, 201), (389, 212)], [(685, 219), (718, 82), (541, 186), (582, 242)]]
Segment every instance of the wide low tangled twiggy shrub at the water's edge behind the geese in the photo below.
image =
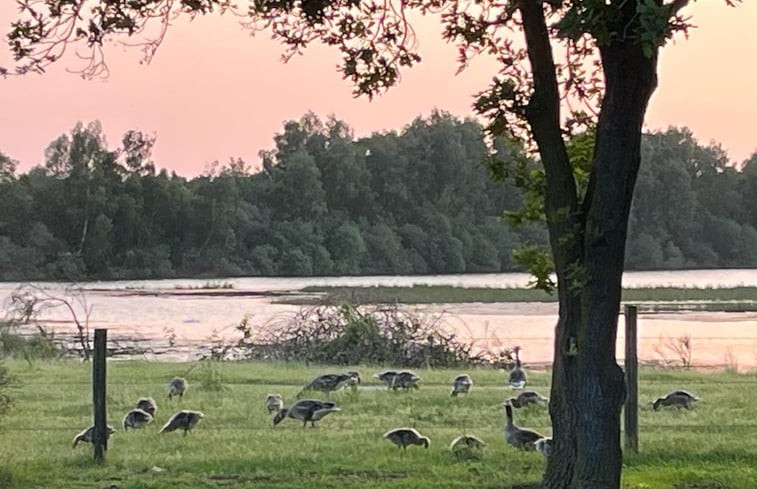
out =
[(445, 331), (439, 316), (399, 306), (315, 306), (257, 328), (243, 321), (236, 349), (249, 359), (323, 364), (455, 367), (486, 363), (471, 346)]

